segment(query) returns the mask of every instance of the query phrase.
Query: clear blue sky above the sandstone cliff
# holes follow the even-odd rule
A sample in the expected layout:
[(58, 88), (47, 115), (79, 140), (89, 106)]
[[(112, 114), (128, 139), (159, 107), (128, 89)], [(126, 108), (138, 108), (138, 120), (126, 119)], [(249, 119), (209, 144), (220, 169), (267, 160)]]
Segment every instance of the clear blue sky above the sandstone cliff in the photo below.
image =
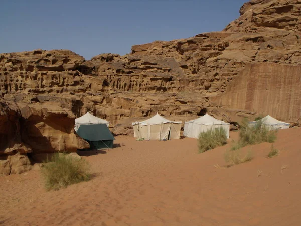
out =
[(0, 53), (69, 49), (89, 60), (220, 31), (246, 0), (0, 0)]

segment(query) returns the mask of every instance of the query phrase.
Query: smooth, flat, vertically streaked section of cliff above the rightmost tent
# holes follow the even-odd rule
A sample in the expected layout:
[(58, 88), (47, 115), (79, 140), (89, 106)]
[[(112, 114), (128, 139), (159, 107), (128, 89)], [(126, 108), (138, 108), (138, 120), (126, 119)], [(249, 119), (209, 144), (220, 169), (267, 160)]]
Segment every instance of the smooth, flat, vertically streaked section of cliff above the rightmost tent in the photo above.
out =
[(223, 106), (273, 112), (294, 122), (301, 115), (301, 66), (275, 63), (247, 64), (245, 70), (215, 100)]

